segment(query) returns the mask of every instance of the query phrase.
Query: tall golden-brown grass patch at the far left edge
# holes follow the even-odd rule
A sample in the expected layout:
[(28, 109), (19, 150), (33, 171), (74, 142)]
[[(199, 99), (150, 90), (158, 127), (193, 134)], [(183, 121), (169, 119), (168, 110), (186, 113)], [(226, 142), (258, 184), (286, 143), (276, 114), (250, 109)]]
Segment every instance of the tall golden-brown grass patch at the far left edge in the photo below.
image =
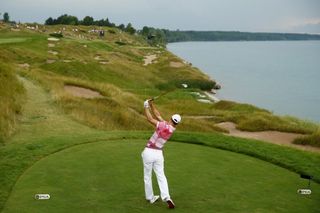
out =
[(13, 67), (0, 62), (0, 142), (14, 133), (24, 95)]

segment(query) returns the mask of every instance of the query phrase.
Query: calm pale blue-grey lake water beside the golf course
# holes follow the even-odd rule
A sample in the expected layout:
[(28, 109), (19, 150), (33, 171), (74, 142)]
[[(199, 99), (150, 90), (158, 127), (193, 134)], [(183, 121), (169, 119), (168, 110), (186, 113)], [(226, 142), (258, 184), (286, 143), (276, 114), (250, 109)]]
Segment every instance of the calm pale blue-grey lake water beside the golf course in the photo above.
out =
[(320, 41), (181, 42), (167, 48), (219, 82), (220, 99), (320, 122)]

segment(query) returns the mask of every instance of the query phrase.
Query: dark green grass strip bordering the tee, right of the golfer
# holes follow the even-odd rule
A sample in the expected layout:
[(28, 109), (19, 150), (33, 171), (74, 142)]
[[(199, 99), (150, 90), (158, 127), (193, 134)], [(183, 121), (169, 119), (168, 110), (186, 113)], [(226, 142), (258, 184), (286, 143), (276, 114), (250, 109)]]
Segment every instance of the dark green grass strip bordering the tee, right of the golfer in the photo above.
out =
[(301, 151), (258, 140), (224, 136), (219, 133), (178, 133), (173, 136), (172, 140), (252, 156), (298, 174), (311, 175), (315, 182), (320, 183), (320, 155), (318, 153)]

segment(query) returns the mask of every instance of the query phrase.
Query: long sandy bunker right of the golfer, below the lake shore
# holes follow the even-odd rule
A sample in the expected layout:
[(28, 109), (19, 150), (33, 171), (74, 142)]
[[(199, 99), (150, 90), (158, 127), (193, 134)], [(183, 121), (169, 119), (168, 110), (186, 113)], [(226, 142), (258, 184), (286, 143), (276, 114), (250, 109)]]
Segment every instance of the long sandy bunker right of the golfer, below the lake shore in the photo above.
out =
[(269, 143), (274, 143), (278, 145), (290, 146), (297, 149), (320, 152), (320, 148), (307, 146), (307, 145), (298, 145), (293, 144), (292, 141), (302, 136), (301, 134), (296, 133), (287, 133), (287, 132), (279, 132), (279, 131), (261, 131), (261, 132), (247, 132), (236, 129), (236, 125), (232, 122), (223, 122), (219, 123), (216, 126), (221, 127), (229, 131), (229, 134), (226, 135), (241, 137), (241, 138), (251, 138), (256, 140), (262, 140)]

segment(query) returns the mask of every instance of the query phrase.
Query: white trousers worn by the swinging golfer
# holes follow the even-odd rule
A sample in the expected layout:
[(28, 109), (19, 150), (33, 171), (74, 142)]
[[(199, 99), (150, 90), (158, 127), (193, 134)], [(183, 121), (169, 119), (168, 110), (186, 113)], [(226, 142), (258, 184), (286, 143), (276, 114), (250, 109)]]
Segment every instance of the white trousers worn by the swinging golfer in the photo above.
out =
[(152, 188), (152, 170), (157, 176), (161, 199), (170, 199), (167, 178), (164, 174), (163, 155), (161, 150), (145, 148), (141, 154), (144, 173), (144, 190), (147, 200), (154, 196)]

